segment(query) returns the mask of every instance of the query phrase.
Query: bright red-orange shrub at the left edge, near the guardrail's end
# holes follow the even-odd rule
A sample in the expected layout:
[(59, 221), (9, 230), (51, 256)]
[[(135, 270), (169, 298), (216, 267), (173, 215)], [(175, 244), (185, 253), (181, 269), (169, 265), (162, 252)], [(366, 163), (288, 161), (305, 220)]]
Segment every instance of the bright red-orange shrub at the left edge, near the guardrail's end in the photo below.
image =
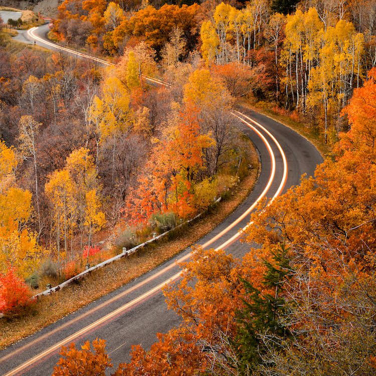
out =
[(33, 303), (32, 295), (15, 268), (10, 267), (7, 273), (0, 274), (0, 312), (5, 316), (22, 313)]

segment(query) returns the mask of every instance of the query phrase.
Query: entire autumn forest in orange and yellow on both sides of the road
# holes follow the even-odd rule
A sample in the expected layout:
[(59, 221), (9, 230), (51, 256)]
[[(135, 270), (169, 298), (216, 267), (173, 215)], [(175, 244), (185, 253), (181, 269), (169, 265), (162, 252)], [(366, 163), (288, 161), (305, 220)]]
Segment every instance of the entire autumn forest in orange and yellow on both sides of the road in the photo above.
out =
[[(376, 2), (65, 0), (49, 38), (111, 66), (0, 33), (0, 312), (239, 184), (248, 103), (329, 152), (242, 260), (196, 249), (164, 290), (181, 324), (114, 374), (374, 374)], [(54, 375), (112, 366), (102, 339), (61, 354)]]

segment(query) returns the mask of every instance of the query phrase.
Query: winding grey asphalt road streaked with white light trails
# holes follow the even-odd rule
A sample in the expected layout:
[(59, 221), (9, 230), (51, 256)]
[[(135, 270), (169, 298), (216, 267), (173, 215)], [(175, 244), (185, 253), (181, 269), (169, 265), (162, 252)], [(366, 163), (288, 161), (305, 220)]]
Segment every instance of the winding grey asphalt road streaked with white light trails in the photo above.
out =
[[(33, 28), (28, 37), (49, 49), (61, 47), (46, 41), (48, 26)], [(67, 53), (108, 64), (102, 59), (64, 48)], [(155, 83), (159, 80), (151, 79)], [(221, 225), (205, 236), (199, 244), (226, 249), (242, 257), (249, 245), (238, 241), (240, 228), (248, 226), (249, 214), (264, 196), (273, 199), (300, 182), (303, 173), (312, 175), (322, 157), (305, 138), (290, 128), (254, 111), (234, 111), (239, 127), (254, 142), (260, 154), (261, 173), (245, 202)], [(40, 332), (0, 351), (0, 374), (48, 375), (59, 358), (62, 344), (82, 344), (96, 337), (107, 340), (107, 350), (116, 366), (129, 360), (132, 344), (149, 347), (157, 332), (166, 332), (178, 324), (174, 312), (168, 311), (161, 286), (179, 277), (176, 262), (190, 257), (187, 249), (125, 286), (113, 291), (77, 312), (49, 325)]]

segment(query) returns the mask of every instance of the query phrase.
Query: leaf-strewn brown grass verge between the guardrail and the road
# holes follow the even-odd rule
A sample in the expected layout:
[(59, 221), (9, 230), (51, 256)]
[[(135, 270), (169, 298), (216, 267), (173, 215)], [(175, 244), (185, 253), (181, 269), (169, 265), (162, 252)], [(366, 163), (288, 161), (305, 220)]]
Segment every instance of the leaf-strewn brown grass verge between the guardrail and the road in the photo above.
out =
[[(256, 150), (252, 148), (252, 164), (258, 165)], [(195, 244), (227, 218), (250, 194), (258, 177), (258, 169), (250, 171), (226, 200), (189, 227), (175, 234), (169, 241), (154, 244), (137, 254), (93, 272), (78, 284), (72, 284), (53, 295), (41, 298), (33, 312), (12, 320), (0, 320), (0, 348), (4, 348), (41, 328), (57, 321), (86, 304), (114, 291), (136, 277), (155, 268), (185, 248)], [(105, 281), (105, 283), (104, 283)]]

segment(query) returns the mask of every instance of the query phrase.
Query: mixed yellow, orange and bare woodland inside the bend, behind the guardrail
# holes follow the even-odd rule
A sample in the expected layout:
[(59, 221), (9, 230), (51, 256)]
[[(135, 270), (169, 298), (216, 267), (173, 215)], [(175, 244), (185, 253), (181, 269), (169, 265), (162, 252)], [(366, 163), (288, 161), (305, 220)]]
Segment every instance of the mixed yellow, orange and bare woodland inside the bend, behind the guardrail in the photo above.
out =
[(150, 86), (143, 75), (157, 64), (145, 43), (105, 70), (27, 49), (1, 58), (1, 265), (31, 286), (77, 274), (101, 253), (98, 232), (131, 247), (246, 173), (233, 97), (214, 71), (181, 63), (186, 82)]

